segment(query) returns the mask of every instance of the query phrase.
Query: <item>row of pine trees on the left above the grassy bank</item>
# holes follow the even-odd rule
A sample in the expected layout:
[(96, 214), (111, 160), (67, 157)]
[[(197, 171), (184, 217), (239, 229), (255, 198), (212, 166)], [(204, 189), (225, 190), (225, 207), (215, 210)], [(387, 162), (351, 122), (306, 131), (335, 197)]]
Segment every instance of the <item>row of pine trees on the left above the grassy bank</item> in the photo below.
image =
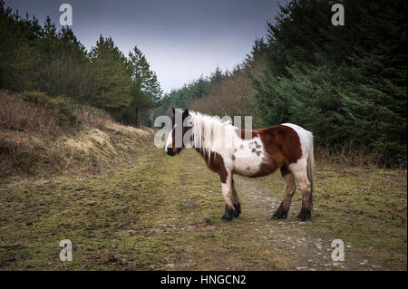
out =
[(160, 103), (157, 75), (135, 45), (125, 56), (111, 37), (88, 52), (69, 27), (57, 31), (0, 0), (0, 89), (45, 92), (108, 111), (123, 123), (148, 124)]

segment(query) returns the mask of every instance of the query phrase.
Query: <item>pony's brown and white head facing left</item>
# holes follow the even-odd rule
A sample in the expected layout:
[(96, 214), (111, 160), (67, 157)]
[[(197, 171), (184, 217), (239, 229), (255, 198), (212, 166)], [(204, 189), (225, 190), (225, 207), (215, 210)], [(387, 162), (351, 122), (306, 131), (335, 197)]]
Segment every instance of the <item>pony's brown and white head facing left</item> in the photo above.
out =
[(191, 128), (191, 124), (189, 124), (188, 121), (185, 121), (189, 118), (188, 110), (181, 111), (171, 108), (171, 111), (171, 131), (166, 141), (165, 150), (168, 155), (173, 157), (179, 154), (182, 149), (184, 149), (184, 135)]

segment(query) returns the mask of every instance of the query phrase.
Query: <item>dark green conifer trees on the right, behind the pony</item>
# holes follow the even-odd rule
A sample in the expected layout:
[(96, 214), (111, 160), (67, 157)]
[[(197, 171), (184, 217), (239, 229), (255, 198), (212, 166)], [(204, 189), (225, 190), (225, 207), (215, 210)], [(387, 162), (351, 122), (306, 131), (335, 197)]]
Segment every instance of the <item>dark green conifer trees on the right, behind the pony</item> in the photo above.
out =
[[(345, 7), (343, 26), (331, 22), (337, 3)], [(233, 98), (228, 86), (238, 87), (242, 77), (234, 77), (246, 73), (250, 82), (235, 92), (252, 102), (236, 111), (253, 115), (257, 126), (293, 122), (328, 151), (353, 144), (385, 165), (405, 164), (406, 42), (406, 1), (287, 1), (237, 70), (220, 73), (219, 101), (209, 93), (215, 82), (202, 92), (199, 80), (168, 94), (163, 106), (238, 108), (242, 98), (221, 100)]]

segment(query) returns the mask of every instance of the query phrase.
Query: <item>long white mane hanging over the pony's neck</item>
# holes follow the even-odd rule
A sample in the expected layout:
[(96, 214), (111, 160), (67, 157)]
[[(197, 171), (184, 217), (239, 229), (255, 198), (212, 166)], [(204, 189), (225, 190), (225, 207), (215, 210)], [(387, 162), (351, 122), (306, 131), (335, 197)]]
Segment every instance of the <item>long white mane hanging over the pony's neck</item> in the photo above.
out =
[(189, 118), (194, 147), (201, 149), (204, 155), (210, 157), (212, 151), (225, 145), (226, 128), (231, 125), (231, 120), (220, 120), (218, 116), (196, 111), (189, 111)]

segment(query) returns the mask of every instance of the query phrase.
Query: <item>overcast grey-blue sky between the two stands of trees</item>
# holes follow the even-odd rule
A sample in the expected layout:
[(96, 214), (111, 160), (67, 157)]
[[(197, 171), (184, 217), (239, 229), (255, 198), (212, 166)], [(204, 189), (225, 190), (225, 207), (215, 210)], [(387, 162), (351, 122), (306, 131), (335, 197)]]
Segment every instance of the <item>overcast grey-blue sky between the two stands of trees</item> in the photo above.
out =
[(100, 34), (126, 55), (138, 45), (165, 92), (241, 63), (277, 12), (277, 0), (5, 0), (42, 24), (50, 15), (57, 27), (63, 3), (73, 6), (73, 31), (88, 50)]

